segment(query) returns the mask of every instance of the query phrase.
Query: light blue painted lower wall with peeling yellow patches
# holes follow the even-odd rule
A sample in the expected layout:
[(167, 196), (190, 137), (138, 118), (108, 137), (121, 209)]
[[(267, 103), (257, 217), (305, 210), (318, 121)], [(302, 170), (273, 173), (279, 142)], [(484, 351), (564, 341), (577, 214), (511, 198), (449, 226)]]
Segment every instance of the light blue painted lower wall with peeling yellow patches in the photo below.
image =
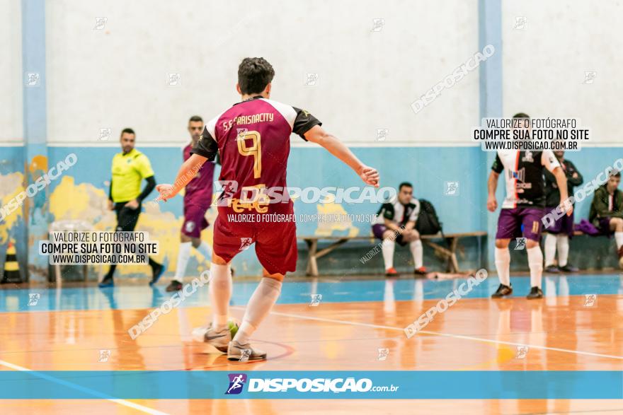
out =
[[(139, 143), (140, 144), (140, 143)], [(179, 166), (181, 165), (181, 151), (178, 148), (140, 148), (152, 161), (156, 173), (157, 182), (173, 181)], [(382, 186), (396, 186), (399, 182), (409, 181), (415, 187), (416, 197), (428, 199), (435, 205), (447, 233), (469, 232), (486, 230), (487, 221), (496, 221), (497, 215), (486, 211), (486, 182), (483, 177), (488, 175), (490, 166), (487, 156), (477, 147), (401, 147), (401, 148), (354, 148), (355, 154), (368, 165), (379, 169), (382, 177)], [(50, 158), (48, 165), (52, 166), (63, 160), (67, 154), (76, 153), (78, 162), (64, 175), (74, 177), (76, 185), (89, 183), (94, 187), (103, 189), (108, 194), (104, 182), (110, 180), (110, 160), (118, 152), (117, 148), (93, 148), (93, 147), (50, 147), (47, 149)], [(608, 165), (623, 156), (621, 148), (586, 148), (579, 153), (568, 153), (568, 158), (576, 164), (584, 175), (585, 181), (592, 180)], [(7, 174), (12, 171), (23, 171), (23, 148), (1, 147), (0, 148), (0, 173)], [(216, 177), (215, 177), (216, 179)], [(288, 185), (291, 187), (351, 187), (359, 186), (360, 180), (350, 168), (333, 158), (322, 148), (292, 148), (288, 162)], [(445, 195), (445, 182), (459, 182), (459, 194), (457, 196)], [(60, 180), (52, 182), (48, 189), (48, 197), (59, 185)], [(503, 197), (503, 182), (498, 186), (498, 203)], [(150, 195), (150, 199), (156, 193)], [(576, 223), (580, 218), (588, 216), (591, 197), (588, 197), (576, 206)], [(364, 202), (362, 204), (341, 204), (348, 214), (375, 214), (378, 204)], [(176, 216), (182, 216), (182, 198), (176, 197), (166, 204), (160, 204), (161, 211), (171, 212)], [(305, 204), (301, 200), (295, 203), (297, 214), (316, 214), (316, 204)], [(370, 224), (353, 223), (359, 229), (359, 235), (369, 235)], [(299, 223), (299, 235), (313, 235), (316, 232), (317, 223)], [(18, 235), (23, 229), (20, 228)], [(343, 230), (336, 230), (333, 235), (343, 235)], [(489, 238), (491, 239), (491, 238)], [(25, 243), (25, 241), (24, 241)], [(607, 259), (610, 255), (611, 242), (606, 238), (578, 238), (572, 243), (572, 255), (576, 248), (585, 249), (595, 247), (599, 255), (595, 259), (585, 260), (585, 267), (612, 266), (612, 261)], [(574, 247), (575, 244), (575, 247)], [(333, 252), (331, 255), (320, 260), (321, 269), (331, 271), (333, 274), (346, 273), (371, 273), (382, 271), (380, 255), (377, 255), (370, 264), (360, 267), (358, 258), (365, 254), (371, 247), (370, 242), (350, 243), (345, 247)], [(461, 241), (459, 262), (464, 268), (477, 268), (486, 265), (487, 250), (479, 248), (476, 238)], [(483, 255), (484, 253), (484, 255)], [(0, 255), (2, 253), (0, 252)], [(171, 253), (171, 257), (176, 255)], [(299, 273), (304, 271), (304, 250), (300, 252)], [(396, 264), (401, 269), (408, 269), (411, 261), (408, 250), (397, 250)], [(425, 262), (429, 267), (442, 268), (443, 264), (435, 258), (433, 252), (425, 250)], [(522, 252), (513, 253), (513, 269), (526, 269), (525, 255)], [(599, 257), (599, 258), (597, 258)], [(245, 274), (259, 274), (259, 264), (254, 260), (252, 250), (242, 252), (238, 262), (252, 262), (254, 265), (245, 267)], [(576, 261), (576, 262), (579, 262)], [(234, 265), (236, 262), (234, 262)], [(331, 266), (323, 267), (323, 264)], [(492, 264), (491, 264), (492, 265)]]

